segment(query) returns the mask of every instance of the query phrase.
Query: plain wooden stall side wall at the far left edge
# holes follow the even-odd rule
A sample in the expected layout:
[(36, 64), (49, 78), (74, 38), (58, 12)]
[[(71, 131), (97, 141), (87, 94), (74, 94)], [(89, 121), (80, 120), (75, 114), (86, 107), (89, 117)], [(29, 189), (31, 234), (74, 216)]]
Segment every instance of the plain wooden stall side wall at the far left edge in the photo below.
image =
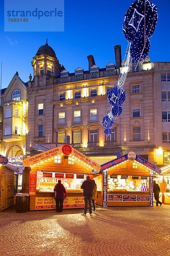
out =
[[(9, 165), (9, 164), (8, 164)], [(14, 205), (14, 170), (0, 165), (0, 212)]]

